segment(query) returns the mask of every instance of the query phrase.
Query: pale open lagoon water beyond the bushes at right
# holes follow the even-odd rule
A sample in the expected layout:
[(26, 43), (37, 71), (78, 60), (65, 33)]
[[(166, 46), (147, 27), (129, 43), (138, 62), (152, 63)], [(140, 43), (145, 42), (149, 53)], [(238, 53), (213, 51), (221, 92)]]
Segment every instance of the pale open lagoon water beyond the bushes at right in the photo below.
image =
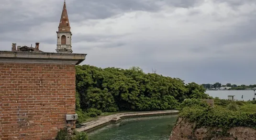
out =
[[(206, 90), (210, 96), (219, 97), (220, 99), (228, 99), (228, 95), (234, 95), (235, 100), (253, 100), (253, 90)], [(243, 99), (242, 99), (243, 95)]]

